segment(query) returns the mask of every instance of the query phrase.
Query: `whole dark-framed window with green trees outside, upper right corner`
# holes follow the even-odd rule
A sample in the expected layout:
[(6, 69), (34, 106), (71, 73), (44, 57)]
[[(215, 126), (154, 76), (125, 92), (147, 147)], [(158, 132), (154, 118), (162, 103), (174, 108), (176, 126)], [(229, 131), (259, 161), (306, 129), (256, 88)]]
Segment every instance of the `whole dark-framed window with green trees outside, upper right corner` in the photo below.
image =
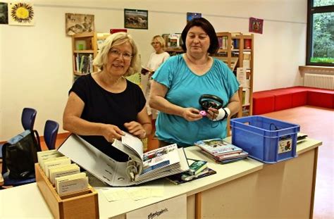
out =
[(307, 65), (334, 66), (334, 0), (308, 0)]

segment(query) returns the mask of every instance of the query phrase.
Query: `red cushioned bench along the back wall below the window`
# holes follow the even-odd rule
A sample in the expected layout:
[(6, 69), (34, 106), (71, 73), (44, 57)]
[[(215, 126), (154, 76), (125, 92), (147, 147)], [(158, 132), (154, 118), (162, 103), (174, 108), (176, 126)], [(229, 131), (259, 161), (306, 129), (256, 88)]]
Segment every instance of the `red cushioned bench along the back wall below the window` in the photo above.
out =
[(285, 87), (253, 93), (254, 115), (304, 105), (334, 108), (334, 90), (311, 87)]

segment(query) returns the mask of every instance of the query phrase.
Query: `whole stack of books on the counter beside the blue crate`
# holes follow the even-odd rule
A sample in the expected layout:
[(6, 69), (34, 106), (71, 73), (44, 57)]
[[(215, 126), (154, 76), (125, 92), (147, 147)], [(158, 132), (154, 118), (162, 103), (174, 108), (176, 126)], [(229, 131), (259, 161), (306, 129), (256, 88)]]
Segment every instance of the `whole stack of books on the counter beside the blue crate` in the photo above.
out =
[(230, 163), (247, 158), (248, 153), (239, 147), (224, 142), (223, 139), (206, 139), (194, 143), (217, 163)]

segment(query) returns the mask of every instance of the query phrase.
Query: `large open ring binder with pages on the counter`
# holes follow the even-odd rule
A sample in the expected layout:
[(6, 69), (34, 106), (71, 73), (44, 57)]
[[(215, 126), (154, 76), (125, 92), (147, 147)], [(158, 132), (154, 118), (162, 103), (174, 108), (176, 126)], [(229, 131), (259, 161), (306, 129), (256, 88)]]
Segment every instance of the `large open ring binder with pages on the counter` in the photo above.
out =
[(129, 160), (116, 161), (75, 134), (71, 134), (58, 151), (114, 187), (141, 184), (189, 170), (185, 152), (176, 144), (143, 153), (142, 141), (125, 132), (122, 139), (115, 140), (111, 146), (127, 154)]

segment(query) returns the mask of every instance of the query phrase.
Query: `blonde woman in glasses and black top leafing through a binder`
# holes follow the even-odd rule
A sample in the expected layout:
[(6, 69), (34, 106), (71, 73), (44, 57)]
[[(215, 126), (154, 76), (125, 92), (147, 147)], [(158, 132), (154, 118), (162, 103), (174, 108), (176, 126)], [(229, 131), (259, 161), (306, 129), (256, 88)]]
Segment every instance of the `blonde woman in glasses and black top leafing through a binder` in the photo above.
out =
[(142, 89), (124, 77), (140, 72), (137, 46), (127, 33), (115, 33), (104, 42), (94, 65), (101, 70), (78, 78), (70, 89), (63, 129), (123, 161), (127, 158), (110, 142), (123, 131), (140, 139), (151, 133)]

